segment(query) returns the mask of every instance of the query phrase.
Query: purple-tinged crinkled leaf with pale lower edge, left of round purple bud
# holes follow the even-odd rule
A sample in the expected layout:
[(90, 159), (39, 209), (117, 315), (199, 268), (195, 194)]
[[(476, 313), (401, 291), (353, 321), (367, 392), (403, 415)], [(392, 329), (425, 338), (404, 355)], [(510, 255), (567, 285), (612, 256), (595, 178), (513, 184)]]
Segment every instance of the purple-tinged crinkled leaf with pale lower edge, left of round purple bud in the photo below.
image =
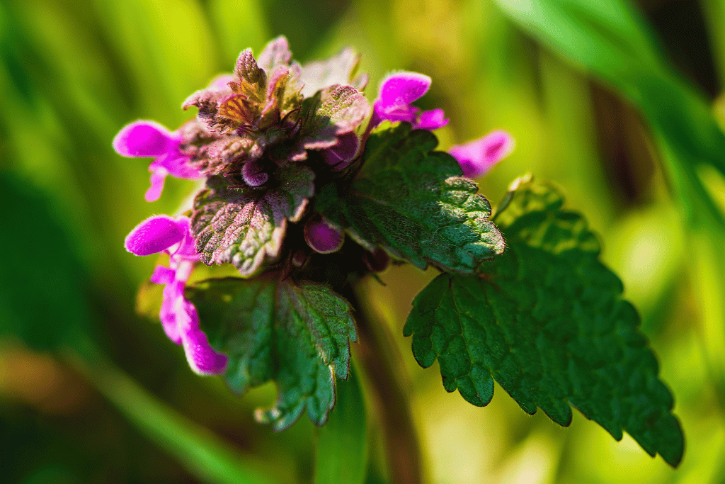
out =
[(276, 188), (234, 188), (220, 176), (196, 195), (191, 232), (207, 265), (231, 262), (252, 276), (279, 255), (287, 221), (299, 221), (312, 197), (315, 173), (297, 164), (279, 168)]

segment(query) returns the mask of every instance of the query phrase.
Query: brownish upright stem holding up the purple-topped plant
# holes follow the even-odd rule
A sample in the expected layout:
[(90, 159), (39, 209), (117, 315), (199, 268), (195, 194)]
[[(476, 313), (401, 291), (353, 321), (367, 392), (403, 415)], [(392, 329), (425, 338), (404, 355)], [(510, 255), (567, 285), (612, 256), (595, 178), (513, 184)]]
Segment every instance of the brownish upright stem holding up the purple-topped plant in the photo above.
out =
[(373, 390), (390, 477), (395, 484), (420, 484), (421, 446), (408, 398), (398, 377), (402, 362), (387, 327), (371, 317), (369, 306), (360, 304), (358, 291), (359, 288), (348, 290), (345, 296), (355, 308), (357, 356)]

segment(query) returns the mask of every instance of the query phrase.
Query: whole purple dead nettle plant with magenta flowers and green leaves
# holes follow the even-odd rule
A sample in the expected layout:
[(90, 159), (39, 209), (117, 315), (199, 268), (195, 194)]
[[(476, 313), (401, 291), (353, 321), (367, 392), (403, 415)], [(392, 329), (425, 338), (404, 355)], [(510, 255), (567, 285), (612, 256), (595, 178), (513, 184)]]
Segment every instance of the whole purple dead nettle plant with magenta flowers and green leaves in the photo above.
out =
[[(125, 240), (133, 254), (168, 255), (151, 280), (164, 284), (159, 317), (191, 369), (223, 374), (236, 393), (275, 382), (276, 403), (255, 415), (276, 430), (303, 411), (325, 424), (358, 329), (361, 354), (385, 354), (357, 283), (390, 263), (432, 266), (441, 274), (413, 300), (403, 335), (418, 364), (439, 362), (447, 391), (485, 406), (495, 380), (523, 411), (564, 426), (575, 406), (676, 466), (674, 401), (584, 217), (531, 176), (494, 212), (471, 178), (510, 154), (511, 136), (436, 151), (432, 131), (449, 120), (413, 104), (431, 78), (391, 73), (370, 102), (358, 60), (344, 49), (299, 65), (279, 37), (191, 94), (182, 107), (197, 114), (175, 131), (139, 120), (113, 141), (120, 155), (154, 158), (146, 200), (166, 176), (204, 180), (191, 206), (147, 218)], [(239, 276), (194, 280), (199, 263), (231, 263)], [(375, 387), (380, 366), (360, 359)], [(381, 381), (394, 381), (394, 366)], [(407, 414), (405, 395), (374, 391)], [(391, 462), (415, 467), (395, 452)]]

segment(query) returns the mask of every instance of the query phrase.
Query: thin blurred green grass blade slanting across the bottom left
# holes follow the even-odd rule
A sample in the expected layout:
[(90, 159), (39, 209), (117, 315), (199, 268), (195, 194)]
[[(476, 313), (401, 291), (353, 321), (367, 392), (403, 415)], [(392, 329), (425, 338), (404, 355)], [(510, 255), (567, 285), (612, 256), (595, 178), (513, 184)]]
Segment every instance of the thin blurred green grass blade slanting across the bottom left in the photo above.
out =
[[(265, 475), (261, 464), (241, 457), (231, 443), (154, 398), (127, 374), (105, 361), (87, 337), (76, 338), (74, 347), (83, 358), (77, 353), (70, 354), (72, 364), (131, 424), (199, 480), (222, 484), (278, 482)], [(89, 358), (94, 353), (96, 356)]]

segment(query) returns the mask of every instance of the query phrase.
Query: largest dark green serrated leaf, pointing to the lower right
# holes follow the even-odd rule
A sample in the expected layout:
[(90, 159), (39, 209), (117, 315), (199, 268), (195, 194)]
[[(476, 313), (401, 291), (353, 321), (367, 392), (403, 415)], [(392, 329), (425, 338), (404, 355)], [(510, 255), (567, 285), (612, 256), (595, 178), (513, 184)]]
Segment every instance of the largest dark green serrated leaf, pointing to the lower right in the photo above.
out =
[(561, 425), (569, 405), (617, 440), (622, 430), (676, 466), (684, 437), (658, 363), (620, 280), (579, 213), (546, 184), (521, 181), (496, 215), (506, 252), (484, 274), (441, 274), (413, 303), (404, 334), (443, 385), (484, 406), (494, 380), (529, 414)]

